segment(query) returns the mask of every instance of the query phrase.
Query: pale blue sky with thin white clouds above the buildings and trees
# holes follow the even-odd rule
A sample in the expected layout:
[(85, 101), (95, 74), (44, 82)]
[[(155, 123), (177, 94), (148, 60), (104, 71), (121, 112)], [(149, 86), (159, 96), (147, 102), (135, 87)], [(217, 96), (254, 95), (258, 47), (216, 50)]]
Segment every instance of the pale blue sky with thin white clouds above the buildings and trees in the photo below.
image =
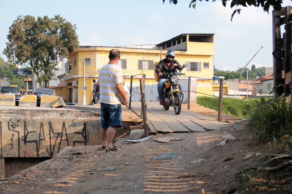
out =
[[(182, 33), (214, 33), (214, 65), (219, 70), (236, 71), (248, 65), (273, 67), (272, 10), (241, 7), (231, 21), (234, 8), (217, 0), (0, 0), (0, 55), (6, 48), (9, 27), (17, 16), (60, 15), (75, 24), (80, 46), (132, 46), (159, 44)], [(283, 0), (282, 7), (291, 6)]]

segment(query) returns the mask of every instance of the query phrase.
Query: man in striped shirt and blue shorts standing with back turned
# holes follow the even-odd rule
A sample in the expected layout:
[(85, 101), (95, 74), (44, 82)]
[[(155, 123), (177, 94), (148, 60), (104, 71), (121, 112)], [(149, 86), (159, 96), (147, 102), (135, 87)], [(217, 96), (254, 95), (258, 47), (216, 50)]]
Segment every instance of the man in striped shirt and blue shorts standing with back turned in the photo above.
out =
[(101, 108), (101, 128), (102, 150), (117, 151), (122, 147), (112, 145), (116, 129), (122, 127), (122, 104), (128, 103), (122, 69), (117, 65), (120, 60), (118, 49), (110, 50), (110, 62), (99, 70), (100, 88), (100, 108)]

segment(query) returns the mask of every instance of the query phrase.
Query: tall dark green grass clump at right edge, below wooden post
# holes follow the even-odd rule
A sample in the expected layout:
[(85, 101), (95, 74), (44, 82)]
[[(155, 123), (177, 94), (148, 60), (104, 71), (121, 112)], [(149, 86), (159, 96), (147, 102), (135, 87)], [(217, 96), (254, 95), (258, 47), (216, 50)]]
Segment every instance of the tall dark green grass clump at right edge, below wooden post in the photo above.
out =
[(285, 140), (292, 135), (292, 105), (285, 98), (276, 100), (261, 99), (254, 114), (250, 117), (248, 129), (259, 143), (277, 139)]

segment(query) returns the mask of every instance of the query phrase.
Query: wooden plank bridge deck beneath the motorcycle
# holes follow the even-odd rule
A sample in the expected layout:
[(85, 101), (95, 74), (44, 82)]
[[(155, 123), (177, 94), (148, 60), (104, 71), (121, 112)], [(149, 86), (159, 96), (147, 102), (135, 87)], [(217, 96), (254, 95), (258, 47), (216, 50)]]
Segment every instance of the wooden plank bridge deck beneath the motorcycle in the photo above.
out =
[[(241, 118), (222, 114), (221, 122), (219, 122), (218, 112), (198, 104), (191, 105), (190, 110), (187, 109), (186, 104), (183, 104), (179, 115), (174, 113), (172, 107), (165, 111), (159, 102), (146, 102), (146, 107), (147, 125), (151, 133), (217, 130), (241, 120)], [(141, 115), (143, 115), (141, 102), (131, 102), (131, 109), (122, 105), (122, 120), (131, 121), (137, 125), (132, 126), (132, 129), (144, 129)]]

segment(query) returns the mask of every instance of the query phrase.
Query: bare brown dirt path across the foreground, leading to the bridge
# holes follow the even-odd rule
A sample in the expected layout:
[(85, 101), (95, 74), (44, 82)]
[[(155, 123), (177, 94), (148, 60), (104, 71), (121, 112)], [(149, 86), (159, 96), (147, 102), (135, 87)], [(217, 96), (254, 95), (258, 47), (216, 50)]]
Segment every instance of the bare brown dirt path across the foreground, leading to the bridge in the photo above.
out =
[[(217, 146), (227, 134), (240, 139)], [(100, 146), (67, 147), (51, 160), (2, 182), (0, 193), (220, 194), (235, 188), (237, 173), (266, 154), (252, 144), (246, 121), (216, 131), (155, 136), (163, 137), (183, 140), (127, 143), (119, 139), (123, 149), (112, 153), (100, 151)], [(173, 158), (152, 159), (165, 153)], [(249, 154), (253, 156), (245, 159)]]

